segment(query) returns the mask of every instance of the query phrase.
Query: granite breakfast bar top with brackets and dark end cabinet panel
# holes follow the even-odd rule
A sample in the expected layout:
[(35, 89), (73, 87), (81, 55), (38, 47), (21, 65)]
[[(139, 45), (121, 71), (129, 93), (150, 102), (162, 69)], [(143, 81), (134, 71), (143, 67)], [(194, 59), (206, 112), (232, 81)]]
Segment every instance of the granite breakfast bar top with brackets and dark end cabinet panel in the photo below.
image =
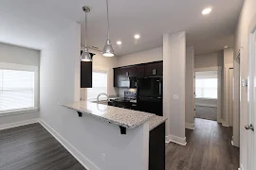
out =
[[(137, 127), (149, 124), (149, 169), (164, 170), (165, 168), (165, 121), (166, 118), (155, 114), (116, 108), (112, 106), (79, 101), (62, 104), (67, 109), (78, 112), (79, 117), (93, 116), (99, 121), (106, 121), (117, 125), (120, 133), (125, 135), (126, 128), (136, 129)], [(129, 131), (128, 131), (129, 132)]]

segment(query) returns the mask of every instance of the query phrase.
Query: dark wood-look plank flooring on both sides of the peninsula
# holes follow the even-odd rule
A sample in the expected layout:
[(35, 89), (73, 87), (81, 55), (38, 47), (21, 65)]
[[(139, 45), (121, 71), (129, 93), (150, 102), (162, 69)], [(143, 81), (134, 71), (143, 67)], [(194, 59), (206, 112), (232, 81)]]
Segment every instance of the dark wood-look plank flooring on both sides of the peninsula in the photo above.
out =
[[(237, 170), (239, 149), (230, 144), (231, 128), (195, 119), (186, 129), (187, 145), (166, 145), (166, 170)], [(0, 170), (84, 170), (40, 124), (0, 131)]]

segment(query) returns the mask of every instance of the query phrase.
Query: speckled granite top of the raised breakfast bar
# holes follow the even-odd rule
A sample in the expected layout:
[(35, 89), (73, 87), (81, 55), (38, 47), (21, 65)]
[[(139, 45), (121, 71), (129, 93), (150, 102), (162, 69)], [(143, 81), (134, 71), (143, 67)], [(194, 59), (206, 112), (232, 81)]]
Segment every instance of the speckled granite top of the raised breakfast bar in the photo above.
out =
[[(80, 101), (61, 105), (65, 108), (80, 111), (84, 114), (127, 128), (138, 127), (149, 121), (152, 117), (155, 117), (155, 114), (148, 112), (126, 110), (89, 101)], [(154, 127), (157, 122), (156, 119), (154, 120), (155, 121), (152, 121), (152, 127)]]

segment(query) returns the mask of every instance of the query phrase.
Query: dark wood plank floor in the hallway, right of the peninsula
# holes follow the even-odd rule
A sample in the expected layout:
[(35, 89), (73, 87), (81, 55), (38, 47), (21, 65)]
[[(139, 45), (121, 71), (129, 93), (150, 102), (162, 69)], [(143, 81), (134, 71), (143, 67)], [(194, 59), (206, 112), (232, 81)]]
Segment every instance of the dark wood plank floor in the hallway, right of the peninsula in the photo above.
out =
[(166, 170), (237, 170), (239, 148), (230, 143), (231, 129), (195, 119), (195, 129), (186, 129), (186, 146), (166, 145)]

